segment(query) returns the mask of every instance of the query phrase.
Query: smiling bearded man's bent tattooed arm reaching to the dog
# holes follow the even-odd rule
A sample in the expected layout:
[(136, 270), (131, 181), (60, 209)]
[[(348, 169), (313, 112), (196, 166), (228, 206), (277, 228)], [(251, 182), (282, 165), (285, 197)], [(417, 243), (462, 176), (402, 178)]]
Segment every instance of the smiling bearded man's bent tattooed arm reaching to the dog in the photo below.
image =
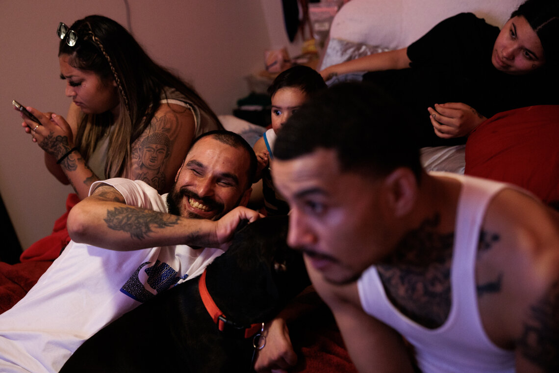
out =
[(75, 242), (119, 251), (178, 244), (219, 248), (241, 220), (258, 218), (246, 207), (236, 207), (217, 221), (182, 218), (126, 205), (116, 188), (102, 185), (70, 210), (68, 232)]

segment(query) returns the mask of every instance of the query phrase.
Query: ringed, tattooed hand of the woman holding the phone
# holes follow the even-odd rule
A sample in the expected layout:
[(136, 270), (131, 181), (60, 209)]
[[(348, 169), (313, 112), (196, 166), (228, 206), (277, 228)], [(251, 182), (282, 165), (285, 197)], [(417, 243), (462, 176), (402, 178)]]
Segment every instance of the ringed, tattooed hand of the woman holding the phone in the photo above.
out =
[(36, 122), (23, 116), (22, 126), (46, 153), (55, 159), (60, 159), (74, 147), (72, 129), (63, 117), (50, 112), (40, 112), (32, 107), (28, 110), (39, 119), (41, 125), (37, 125)]

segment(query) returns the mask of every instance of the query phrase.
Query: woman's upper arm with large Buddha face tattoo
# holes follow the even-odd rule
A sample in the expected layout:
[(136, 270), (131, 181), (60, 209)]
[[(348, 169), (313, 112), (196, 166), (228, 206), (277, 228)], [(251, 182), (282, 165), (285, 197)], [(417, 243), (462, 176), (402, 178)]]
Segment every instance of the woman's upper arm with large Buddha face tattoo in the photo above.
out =
[(168, 192), (181, 167), (195, 134), (194, 116), (190, 109), (162, 104), (149, 127), (132, 144), (131, 175), (159, 193)]

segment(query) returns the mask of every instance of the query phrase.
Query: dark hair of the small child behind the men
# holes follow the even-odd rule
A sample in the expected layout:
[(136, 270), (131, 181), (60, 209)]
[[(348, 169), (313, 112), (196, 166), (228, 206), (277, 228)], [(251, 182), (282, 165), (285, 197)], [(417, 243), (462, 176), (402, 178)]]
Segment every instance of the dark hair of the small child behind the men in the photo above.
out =
[(326, 83), (320, 74), (305, 65), (297, 65), (289, 68), (274, 79), (268, 88), (268, 94), (272, 97), (281, 88), (299, 88), (302, 92), (310, 95), (326, 88)]

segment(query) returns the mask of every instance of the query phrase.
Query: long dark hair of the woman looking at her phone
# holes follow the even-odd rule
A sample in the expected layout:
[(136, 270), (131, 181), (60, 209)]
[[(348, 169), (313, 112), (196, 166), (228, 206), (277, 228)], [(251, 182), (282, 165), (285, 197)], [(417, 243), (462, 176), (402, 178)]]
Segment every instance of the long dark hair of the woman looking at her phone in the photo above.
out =
[[(58, 55), (68, 55), (77, 69), (97, 74), (108, 84), (112, 79), (119, 91), (121, 121), (111, 133), (106, 176), (120, 176), (129, 164), (130, 145), (144, 133), (158, 110), (164, 88), (174, 88), (216, 123), (219, 120), (196, 91), (169, 70), (155, 63), (132, 35), (110, 18), (92, 15), (69, 27), (77, 33), (74, 46), (60, 41)], [(76, 143), (86, 160), (113, 120), (110, 113), (90, 114), (78, 125)]]

